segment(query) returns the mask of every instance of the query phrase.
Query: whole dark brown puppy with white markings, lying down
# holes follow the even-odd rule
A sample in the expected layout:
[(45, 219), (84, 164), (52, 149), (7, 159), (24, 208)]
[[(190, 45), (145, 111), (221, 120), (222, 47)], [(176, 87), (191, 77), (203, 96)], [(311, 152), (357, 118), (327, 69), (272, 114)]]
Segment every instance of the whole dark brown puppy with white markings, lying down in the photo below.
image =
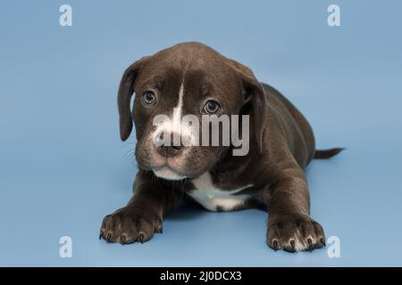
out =
[[(134, 108), (130, 98), (135, 92)], [(174, 45), (134, 62), (121, 78), (118, 94), (121, 139), (134, 120), (139, 171), (129, 204), (105, 216), (100, 238), (147, 241), (162, 232), (163, 216), (185, 196), (206, 209), (230, 211), (263, 204), (269, 212), (267, 243), (298, 251), (325, 244), (322, 226), (309, 216), (304, 168), (311, 159), (340, 149), (315, 151), (306, 118), (278, 91), (260, 84), (253, 72), (199, 43)], [(156, 145), (163, 137), (153, 118), (174, 121), (191, 114), (248, 115), (250, 148), (233, 156), (226, 146)], [(164, 131), (173, 134), (170, 125)], [(173, 181), (180, 180), (180, 183)]]

